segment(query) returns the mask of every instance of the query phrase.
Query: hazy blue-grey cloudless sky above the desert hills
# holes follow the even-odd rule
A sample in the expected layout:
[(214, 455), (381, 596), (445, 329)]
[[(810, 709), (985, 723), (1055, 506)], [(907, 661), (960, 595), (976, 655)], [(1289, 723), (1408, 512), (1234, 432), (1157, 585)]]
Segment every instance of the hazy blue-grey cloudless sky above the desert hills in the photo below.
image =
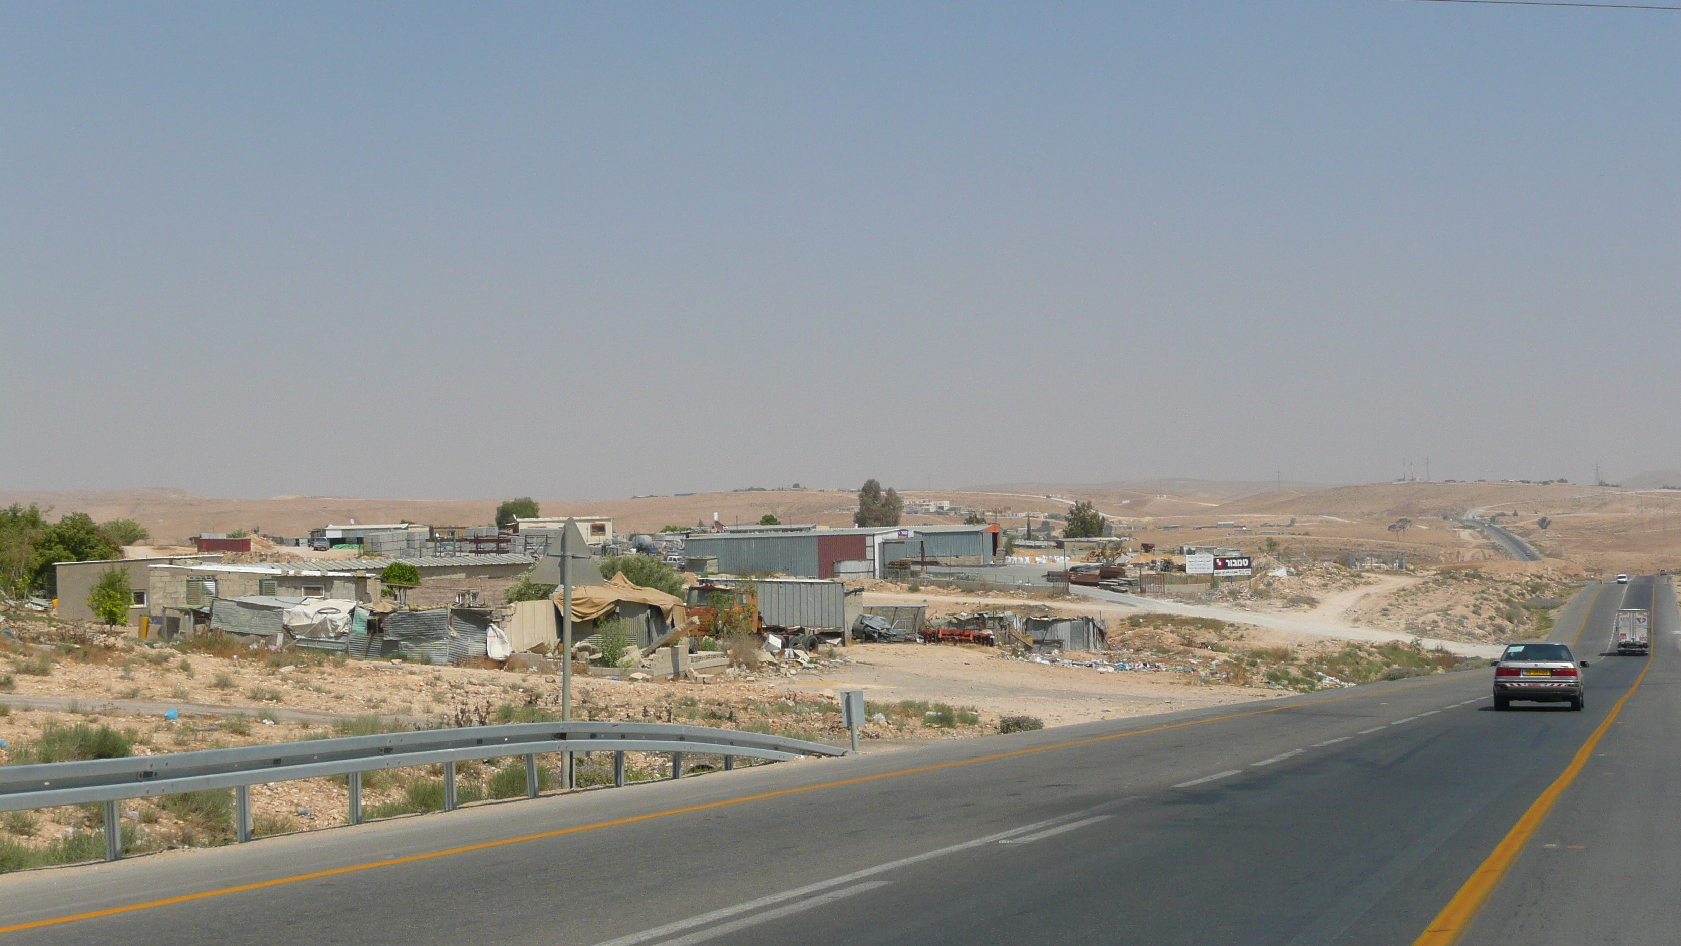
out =
[(0, 8), (0, 488), (1681, 466), (1681, 12)]

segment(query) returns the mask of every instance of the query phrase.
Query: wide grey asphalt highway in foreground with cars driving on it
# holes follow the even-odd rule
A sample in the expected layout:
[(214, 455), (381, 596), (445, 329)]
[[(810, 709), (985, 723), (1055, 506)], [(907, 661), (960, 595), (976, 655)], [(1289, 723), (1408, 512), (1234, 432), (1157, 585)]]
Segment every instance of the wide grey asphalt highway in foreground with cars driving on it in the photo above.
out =
[[(1592, 662), (1584, 712), (1494, 712), (1473, 670), (785, 763), (8, 875), (0, 926), (47, 922), (3, 934), (20, 944), (1394, 944), (1444, 929), (1510, 850), (1466, 943), (1668, 943), (1668, 582), (1654, 656), (1600, 656), (1642, 587), (1589, 586), (1555, 628)], [(55, 922), (99, 911), (118, 912)]]

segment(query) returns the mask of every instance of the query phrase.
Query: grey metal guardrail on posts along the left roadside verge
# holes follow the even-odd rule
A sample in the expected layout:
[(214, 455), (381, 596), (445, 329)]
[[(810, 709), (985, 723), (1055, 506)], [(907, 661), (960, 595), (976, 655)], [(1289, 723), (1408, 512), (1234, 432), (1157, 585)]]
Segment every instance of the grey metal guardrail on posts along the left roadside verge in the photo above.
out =
[(524, 756), (526, 795), (538, 796), (536, 757), (543, 752), (614, 752), (614, 784), (625, 784), (624, 754), (671, 752), (672, 778), (682, 778), (682, 756), (723, 756), (725, 769), (738, 756), (788, 761), (802, 756), (844, 756), (846, 749), (708, 725), (664, 722), (521, 722), (346, 736), (129, 756), (84, 763), (0, 766), (0, 811), (50, 808), (55, 805), (104, 803), (106, 860), (121, 857), (118, 801), (156, 798), (212, 788), (235, 789), (235, 826), (240, 842), (250, 840), (250, 786), (321, 776), (348, 776), (350, 823), (361, 823), (361, 773), (408, 766), (444, 766), (444, 810), (456, 808), (456, 763)]

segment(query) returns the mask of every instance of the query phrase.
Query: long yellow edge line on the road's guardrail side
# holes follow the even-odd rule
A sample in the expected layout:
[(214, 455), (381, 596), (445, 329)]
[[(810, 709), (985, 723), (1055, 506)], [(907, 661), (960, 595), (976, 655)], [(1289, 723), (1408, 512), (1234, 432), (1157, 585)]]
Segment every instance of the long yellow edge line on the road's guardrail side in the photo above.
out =
[(782, 798), (785, 795), (800, 795), (800, 793), (805, 793), (805, 791), (819, 791), (819, 789), (824, 789), (824, 788), (839, 788), (839, 786), (844, 786), (844, 784), (859, 784), (859, 783), (877, 781), (877, 779), (884, 779), (884, 778), (898, 778), (898, 776), (908, 776), (908, 774), (918, 774), (918, 773), (933, 773), (933, 771), (950, 769), (950, 768), (956, 768), (956, 766), (972, 766), (975, 763), (992, 763), (992, 761), (997, 761), (997, 759), (1010, 759), (1010, 757), (1015, 757), (1015, 756), (1032, 756), (1035, 752), (1049, 752), (1052, 749), (1069, 749), (1069, 747), (1074, 747), (1074, 746), (1089, 746), (1093, 742), (1108, 742), (1109, 739), (1125, 739), (1128, 736), (1146, 736), (1150, 732), (1167, 732), (1170, 729), (1183, 729), (1187, 725), (1205, 725), (1209, 722), (1224, 722), (1227, 719), (1242, 719), (1242, 717), (1247, 717), (1247, 715), (1266, 715), (1269, 712), (1284, 712), (1284, 710), (1291, 710), (1291, 709), (1318, 707), (1318, 705), (1325, 705), (1325, 704), (1338, 704), (1338, 702), (1343, 702), (1343, 700), (1353, 700), (1353, 699), (1360, 699), (1360, 697), (1377, 697), (1377, 695), (1394, 694), (1397, 690), (1414, 690), (1417, 687), (1431, 687), (1431, 685), (1436, 685), (1436, 683), (1446, 683), (1447, 680), (1452, 680), (1456, 677), (1457, 675), (1449, 673), (1449, 675), (1444, 675), (1439, 680), (1424, 680), (1424, 682), (1419, 682), (1419, 683), (1409, 683), (1405, 687), (1394, 687), (1390, 690), (1383, 690), (1382, 694), (1350, 694), (1346, 697), (1331, 697), (1331, 699), (1325, 699), (1325, 700), (1313, 700), (1313, 702), (1304, 702), (1304, 704), (1291, 704), (1291, 705), (1273, 707), (1273, 709), (1264, 709), (1264, 710), (1247, 710), (1247, 712), (1234, 712), (1234, 714), (1227, 714), (1227, 715), (1215, 715), (1215, 717), (1209, 717), (1209, 719), (1192, 719), (1192, 720), (1185, 720), (1185, 722), (1170, 722), (1167, 725), (1153, 725), (1150, 729), (1133, 729), (1133, 731), (1128, 731), (1128, 732), (1113, 732), (1109, 736), (1093, 736), (1089, 739), (1074, 739), (1071, 742), (1057, 742), (1054, 746), (1039, 746), (1035, 749), (1014, 749), (1010, 752), (993, 752), (992, 756), (977, 756), (973, 759), (960, 759), (960, 761), (955, 761), (955, 763), (938, 763), (938, 764), (933, 764), (933, 766), (916, 766), (913, 769), (898, 769), (898, 771), (879, 773), (879, 774), (872, 774), (872, 776), (859, 776), (859, 778), (847, 778), (847, 779), (839, 779), (839, 781), (825, 781), (822, 784), (807, 784), (807, 786), (800, 786), (800, 788), (783, 788), (783, 789), (778, 789), (778, 791), (765, 791), (761, 795), (748, 795), (745, 798), (728, 798), (725, 801), (708, 801), (704, 805), (689, 805), (686, 808), (671, 808), (667, 811), (652, 811), (652, 813), (647, 813), (647, 815), (632, 815), (629, 818), (614, 818), (612, 821), (595, 821), (593, 825), (578, 825), (575, 828), (560, 828), (560, 830), (555, 830), (555, 832), (543, 832), (543, 833), (536, 833), (536, 835), (521, 835), (518, 838), (503, 838), (503, 840), (496, 840), (496, 842), (484, 842), (484, 843), (466, 845), (466, 847), (452, 847), (452, 848), (447, 848), (447, 850), (432, 850), (432, 852), (427, 852), (427, 853), (412, 853), (412, 855), (407, 855), (407, 857), (392, 857), (392, 858), (387, 858), (387, 860), (373, 860), (373, 862), (368, 862), (368, 864), (353, 864), (353, 865), (348, 865), (348, 867), (333, 867), (329, 870), (314, 870), (311, 874), (296, 874), (296, 875), (291, 875), (291, 877), (276, 877), (272, 880), (259, 880), (256, 884), (240, 884), (237, 887), (220, 887), (220, 889), (215, 889), (215, 890), (202, 890), (198, 894), (183, 894), (180, 897), (165, 897), (161, 901), (145, 901), (145, 902), (140, 902), (140, 904), (124, 904), (124, 906), (119, 906), (119, 907), (106, 907), (106, 909), (101, 909), (101, 911), (89, 911), (89, 912), (79, 912), (79, 914), (59, 916), (59, 917), (49, 917), (49, 919), (37, 919), (37, 921), (30, 921), (30, 922), (17, 922), (17, 924), (12, 924), (12, 926), (0, 926), (0, 933), (18, 933), (18, 931), (24, 931), (24, 929), (39, 929), (42, 926), (57, 926), (57, 924), (62, 924), (62, 922), (76, 922), (79, 919), (96, 919), (96, 917), (101, 917), (101, 916), (114, 916), (114, 914), (124, 914), (124, 912), (133, 912), (133, 911), (145, 911), (145, 909), (153, 909), (153, 907), (166, 907), (166, 906), (171, 906), (171, 904), (187, 904), (187, 902), (192, 902), (192, 901), (203, 901), (203, 899), (208, 899), (208, 897), (225, 897), (229, 894), (244, 894), (244, 892), (249, 892), (249, 890), (262, 890), (266, 887), (279, 887), (282, 884), (298, 884), (298, 882), (303, 882), (303, 880), (318, 880), (321, 877), (335, 877), (335, 875), (340, 875), (340, 874), (355, 874), (358, 870), (373, 870), (377, 867), (395, 867), (398, 864), (414, 864), (417, 860), (430, 860), (434, 857), (449, 857), (449, 855), (454, 855), (454, 853), (469, 853), (469, 852), (474, 852), (474, 850), (489, 850), (489, 848), (504, 847), (504, 845), (516, 845), (516, 843), (536, 842), (536, 840), (545, 840), (545, 838), (558, 838), (558, 837), (563, 837), (563, 835), (575, 835), (575, 833), (580, 833), (580, 832), (593, 832), (593, 830), (598, 830), (598, 828), (612, 828), (612, 826), (617, 826), (617, 825), (634, 825), (637, 821), (651, 821), (654, 818), (669, 818), (672, 815), (688, 815), (691, 811), (706, 811), (709, 808), (726, 808), (726, 806), (731, 806), (731, 805), (746, 805), (748, 801), (763, 801), (767, 798)]

